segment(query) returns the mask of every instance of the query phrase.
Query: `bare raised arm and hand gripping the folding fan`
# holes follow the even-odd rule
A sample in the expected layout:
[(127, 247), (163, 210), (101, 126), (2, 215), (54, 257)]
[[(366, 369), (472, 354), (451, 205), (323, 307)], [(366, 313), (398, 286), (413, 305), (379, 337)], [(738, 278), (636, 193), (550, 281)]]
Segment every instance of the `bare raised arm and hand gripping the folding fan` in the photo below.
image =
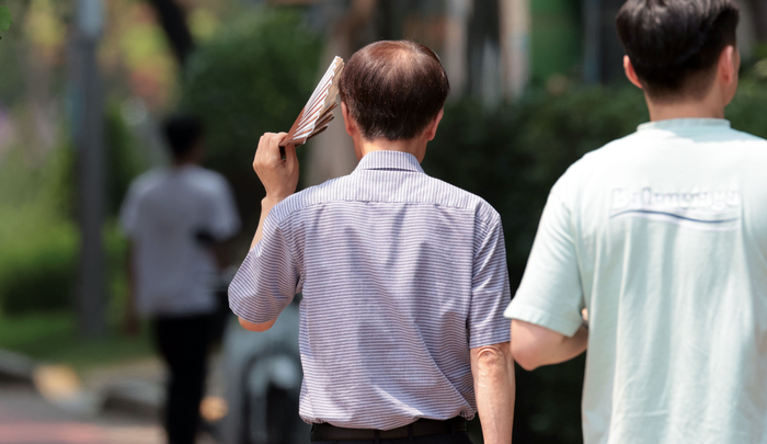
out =
[[(266, 190), (266, 197), (261, 201), (261, 217), (259, 228), (253, 236), (251, 250), (261, 241), (264, 230), (264, 220), (272, 208), (283, 202), (287, 196), (296, 192), (298, 186), (298, 158), (296, 147), (288, 145), (285, 147), (285, 159), (282, 158), (279, 143), (287, 136), (287, 133), (266, 133), (261, 136), (259, 147), (253, 159), (253, 170), (259, 175), (261, 183)], [(277, 318), (262, 323), (249, 322), (239, 318), (240, 326), (250, 331), (266, 331), (274, 326)]]

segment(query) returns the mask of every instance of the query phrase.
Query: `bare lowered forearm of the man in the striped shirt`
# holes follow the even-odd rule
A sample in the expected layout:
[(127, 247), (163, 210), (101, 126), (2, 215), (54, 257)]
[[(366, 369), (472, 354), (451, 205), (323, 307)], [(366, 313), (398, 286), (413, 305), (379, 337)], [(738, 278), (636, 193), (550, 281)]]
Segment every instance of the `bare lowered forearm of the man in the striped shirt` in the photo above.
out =
[(510, 343), (471, 349), (471, 374), (484, 442), (511, 443), (516, 386)]

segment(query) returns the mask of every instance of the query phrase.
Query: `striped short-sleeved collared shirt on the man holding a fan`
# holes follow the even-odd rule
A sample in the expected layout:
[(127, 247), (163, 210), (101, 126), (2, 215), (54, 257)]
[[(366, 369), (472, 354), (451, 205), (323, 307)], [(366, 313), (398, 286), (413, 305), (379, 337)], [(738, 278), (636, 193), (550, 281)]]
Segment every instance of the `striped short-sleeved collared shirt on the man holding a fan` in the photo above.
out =
[(300, 415), (310, 423), (470, 419), (469, 349), (510, 340), (497, 212), (405, 152), (370, 152), (352, 174), (272, 208), (229, 304), (262, 323), (298, 292)]

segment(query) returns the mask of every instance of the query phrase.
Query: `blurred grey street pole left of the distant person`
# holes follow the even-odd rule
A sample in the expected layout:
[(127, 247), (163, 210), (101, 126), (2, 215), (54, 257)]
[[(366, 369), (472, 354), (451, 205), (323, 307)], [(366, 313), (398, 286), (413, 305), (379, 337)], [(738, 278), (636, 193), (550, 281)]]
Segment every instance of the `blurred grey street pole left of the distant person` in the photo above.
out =
[(106, 332), (105, 255), (101, 239), (105, 200), (104, 115), (96, 60), (102, 31), (102, 0), (78, 0), (70, 64), (81, 246), (77, 310), (83, 338), (98, 338)]

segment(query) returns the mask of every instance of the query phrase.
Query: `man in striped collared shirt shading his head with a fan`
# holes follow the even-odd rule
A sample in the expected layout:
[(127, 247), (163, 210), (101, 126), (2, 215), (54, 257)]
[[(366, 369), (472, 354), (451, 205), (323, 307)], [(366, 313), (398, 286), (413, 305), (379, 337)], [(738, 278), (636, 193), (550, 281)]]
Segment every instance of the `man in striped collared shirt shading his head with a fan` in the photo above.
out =
[(478, 410), (486, 443), (511, 442), (501, 218), (420, 166), (448, 90), (427, 47), (375, 43), (340, 80), (352, 174), (294, 194), (295, 147), (281, 160), (285, 134), (259, 143), (266, 197), (230, 306), (263, 331), (302, 292), (300, 415), (312, 442), (468, 443)]

